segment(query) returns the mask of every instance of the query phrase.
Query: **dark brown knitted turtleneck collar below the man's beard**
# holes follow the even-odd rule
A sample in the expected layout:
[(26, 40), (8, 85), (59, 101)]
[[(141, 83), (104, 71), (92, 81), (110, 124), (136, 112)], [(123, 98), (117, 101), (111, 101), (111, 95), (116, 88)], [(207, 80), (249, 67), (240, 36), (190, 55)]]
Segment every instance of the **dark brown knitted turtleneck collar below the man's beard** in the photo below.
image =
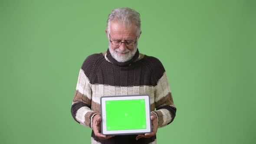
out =
[(117, 60), (115, 60), (111, 53), (109, 52), (109, 49), (107, 50), (107, 53), (106, 53), (106, 57), (107, 59), (112, 62), (113, 64), (115, 65), (118, 65), (118, 66), (126, 66), (126, 65), (130, 65), (132, 62), (135, 62), (138, 57), (139, 57), (140, 53), (139, 53), (139, 49), (137, 49), (137, 51), (135, 52), (135, 55), (130, 59), (128, 60), (127, 62), (118, 62)]

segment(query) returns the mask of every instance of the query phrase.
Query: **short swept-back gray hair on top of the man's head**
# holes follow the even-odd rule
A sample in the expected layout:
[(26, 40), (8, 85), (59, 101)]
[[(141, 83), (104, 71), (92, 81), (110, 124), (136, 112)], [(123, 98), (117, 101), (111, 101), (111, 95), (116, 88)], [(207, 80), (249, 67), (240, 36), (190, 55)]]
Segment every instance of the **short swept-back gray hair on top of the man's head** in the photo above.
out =
[(123, 26), (130, 26), (135, 22), (137, 26), (137, 35), (141, 33), (141, 19), (140, 14), (129, 7), (116, 8), (108, 15), (107, 32), (110, 32), (110, 23), (112, 20), (117, 20)]

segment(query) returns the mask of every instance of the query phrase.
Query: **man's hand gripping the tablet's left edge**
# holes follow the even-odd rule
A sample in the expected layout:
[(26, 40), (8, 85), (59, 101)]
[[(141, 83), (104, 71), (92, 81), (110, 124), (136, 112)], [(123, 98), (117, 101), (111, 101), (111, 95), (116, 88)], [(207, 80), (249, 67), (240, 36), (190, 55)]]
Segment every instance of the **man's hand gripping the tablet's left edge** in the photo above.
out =
[(94, 132), (95, 136), (100, 139), (108, 139), (108, 138), (114, 137), (113, 135), (106, 136), (101, 133), (101, 121), (102, 121), (102, 118), (98, 114), (95, 115), (92, 119), (92, 131)]

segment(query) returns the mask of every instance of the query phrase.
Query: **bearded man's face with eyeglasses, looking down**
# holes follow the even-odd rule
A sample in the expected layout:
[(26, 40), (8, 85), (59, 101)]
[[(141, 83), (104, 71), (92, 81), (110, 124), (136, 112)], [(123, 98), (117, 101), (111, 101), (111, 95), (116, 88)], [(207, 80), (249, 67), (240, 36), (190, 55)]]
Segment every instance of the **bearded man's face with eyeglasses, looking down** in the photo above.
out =
[[(111, 41), (137, 41), (137, 27), (134, 23), (132, 23), (131, 26), (125, 27), (116, 21), (112, 21), (109, 28)], [(133, 46), (126, 46), (125, 43), (115, 46), (109, 41), (108, 48), (115, 60), (118, 62), (126, 62), (135, 55), (137, 43)]]

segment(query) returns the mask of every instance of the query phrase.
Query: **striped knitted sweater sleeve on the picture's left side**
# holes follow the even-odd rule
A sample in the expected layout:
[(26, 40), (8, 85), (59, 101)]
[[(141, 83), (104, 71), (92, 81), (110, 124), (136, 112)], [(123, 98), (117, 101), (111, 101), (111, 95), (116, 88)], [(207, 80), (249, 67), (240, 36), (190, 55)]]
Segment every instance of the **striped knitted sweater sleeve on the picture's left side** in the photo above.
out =
[[(85, 75), (83, 63), (79, 71), (78, 81), (75, 89), (75, 96), (72, 101), (71, 114), (79, 124), (92, 128), (92, 118), (97, 114), (91, 110), (92, 89), (88, 76)], [(90, 65), (89, 65), (90, 66)]]

